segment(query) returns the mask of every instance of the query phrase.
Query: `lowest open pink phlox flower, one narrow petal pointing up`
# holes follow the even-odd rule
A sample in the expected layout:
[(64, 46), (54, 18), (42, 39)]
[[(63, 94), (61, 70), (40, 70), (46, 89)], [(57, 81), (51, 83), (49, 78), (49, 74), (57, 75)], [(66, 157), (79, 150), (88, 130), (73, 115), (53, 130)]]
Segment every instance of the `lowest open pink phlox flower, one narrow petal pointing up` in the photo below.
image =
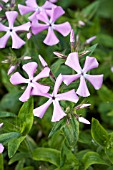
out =
[[(51, 121), (56, 122), (56, 121), (59, 121), (60, 119), (62, 119), (64, 116), (66, 116), (66, 113), (62, 110), (62, 108), (59, 104), (59, 101), (67, 100), (67, 101), (77, 103), (78, 96), (76, 95), (75, 90), (70, 90), (68, 92), (58, 94), (58, 90), (59, 90), (61, 83), (62, 83), (62, 75), (60, 74), (56, 79), (53, 93), (52, 94), (47, 93), (47, 94), (42, 95), (42, 96), (49, 98), (49, 100), (46, 103), (44, 103), (43, 105), (34, 109), (34, 111), (33, 111), (34, 116), (42, 118), (44, 116), (46, 110), (48, 109), (48, 107), (53, 103), (54, 110), (53, 110), (53, 116), (52, 116)], [(32, 95), (37, 95), (35, 89), (33, 89)]]

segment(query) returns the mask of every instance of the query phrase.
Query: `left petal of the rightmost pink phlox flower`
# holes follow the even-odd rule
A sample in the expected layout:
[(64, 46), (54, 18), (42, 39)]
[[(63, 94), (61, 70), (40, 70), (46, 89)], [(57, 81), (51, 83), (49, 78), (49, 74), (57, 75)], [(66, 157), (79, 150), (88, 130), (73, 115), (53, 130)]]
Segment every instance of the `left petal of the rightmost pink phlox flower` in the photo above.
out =
[(62, 75), (62, 77), (63, 77), (63, 82), (68, 86), (70, 83), (80, 78), (80, 74)]

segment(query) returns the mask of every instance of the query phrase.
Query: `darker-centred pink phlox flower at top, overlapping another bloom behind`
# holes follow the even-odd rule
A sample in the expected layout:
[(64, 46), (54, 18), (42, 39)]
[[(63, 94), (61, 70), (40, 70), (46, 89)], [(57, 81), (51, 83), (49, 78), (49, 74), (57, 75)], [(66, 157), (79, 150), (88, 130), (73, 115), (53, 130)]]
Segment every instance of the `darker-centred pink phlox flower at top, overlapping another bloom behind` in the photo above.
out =
[[(71, 26), (69, 22), (55, 24), (55, 21), (64, 13), (64, 10), (60, 6), (52, 8), (50, 19), (46, 12), (41, 12), (40, 15), (37, 15), (38, 22), (35, 22), (35, 24), (32, 23), (31, 28), (33, 34), (36, 35), (48, 29), (47, 36), (43, 42), (50, 46), (57, 44), (59, 42), (59, 39), (56, 37), (54, 30), (58, 31), (63, 36), (67, 36), (71, 31)], [(45, 24), (39, 23), (39, 21), (44, 22)]]

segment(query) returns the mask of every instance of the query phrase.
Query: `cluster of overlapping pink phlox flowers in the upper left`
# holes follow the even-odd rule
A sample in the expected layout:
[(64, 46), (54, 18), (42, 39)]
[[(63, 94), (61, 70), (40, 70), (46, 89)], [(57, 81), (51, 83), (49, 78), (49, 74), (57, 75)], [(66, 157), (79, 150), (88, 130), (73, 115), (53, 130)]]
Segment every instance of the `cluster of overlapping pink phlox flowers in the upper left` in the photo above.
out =
[[(5, 1), (4, 2), (8, 2)], [(71, 26), (68, 22), (62, 24), (55, 24), (56, 20), (62, 16), (65, 12), (60, 6), (56, 6), (52, 2), (46, 1), (44, 5), (39, 6), (36, 0), (26, 0), (26, 6), (19, 4), (18, 9), (21, 15), (33, 12), (33, 14), (28, 17), (30, 22), (22, 24), (20, 26), (14, 26), (14, 22), (18, 16), (16, 11), (5, 12), (6, 18), (8, 20), (8, 26), (0, 23), (0, 32), (6, 32), (6, 34), (0, 38), (0, 48), (5, 48), (8, 39), (12, 38), (12, 48), (19, 49), (24, 44), (18, 34), (27, 31), (27, 38), (30, 39), (32, 34), (36, 35), (44, 30), (48, 30), (47, 36), (44, 39), (46, 45), (52, 46), (59, 42), (59, 39), (54, 33), (54, 30), (67, 36), (71, 31)], [(2, 10), (2, 6), (0, 6)], [(42, 24), (42, 22), (44, 24)], [(31, 28), (31, 31), (30, 31)]]

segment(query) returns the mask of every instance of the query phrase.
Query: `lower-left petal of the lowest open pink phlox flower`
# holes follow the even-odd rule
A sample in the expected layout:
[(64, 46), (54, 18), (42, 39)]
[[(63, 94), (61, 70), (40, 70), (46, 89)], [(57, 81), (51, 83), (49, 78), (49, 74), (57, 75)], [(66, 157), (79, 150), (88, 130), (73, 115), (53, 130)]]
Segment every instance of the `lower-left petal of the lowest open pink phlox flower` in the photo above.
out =
[(49, 99), (46, 103), (44, 103), (43, 105), (41, 105), (41, 106), (37, 107), (36, 109), (34, 109), (33, 110), (34, 116), (42, 118), (51, 103), (52, 103), (52, 100)]

